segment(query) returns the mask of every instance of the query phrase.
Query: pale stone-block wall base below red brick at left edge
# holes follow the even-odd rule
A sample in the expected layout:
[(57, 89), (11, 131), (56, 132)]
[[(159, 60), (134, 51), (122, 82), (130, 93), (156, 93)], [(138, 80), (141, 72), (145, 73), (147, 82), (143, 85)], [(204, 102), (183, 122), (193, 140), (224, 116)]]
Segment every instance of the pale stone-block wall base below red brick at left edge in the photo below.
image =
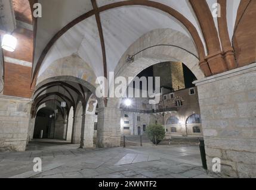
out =
[(26, 150), (30, 107), (30, 99), (0, 96), (0, 151)]

